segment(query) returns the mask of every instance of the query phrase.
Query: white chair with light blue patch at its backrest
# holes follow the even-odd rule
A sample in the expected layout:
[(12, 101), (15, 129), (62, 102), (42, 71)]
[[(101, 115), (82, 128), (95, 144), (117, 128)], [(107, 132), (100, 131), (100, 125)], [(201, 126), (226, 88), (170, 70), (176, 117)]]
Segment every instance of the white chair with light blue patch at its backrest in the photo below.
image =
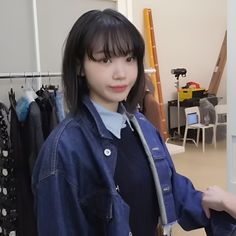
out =
[(200, 130), (202, 130), (202, 151), (205, 152), (205, 130), (211, 128), (213, 130), (212, 140), (214, 143), (214, 147), (216, 147), (216, 139), (214, 134), (215, 124), (209, 124), (209, 125), (201, 124), (200, 111), (198, 106), (187, 107), (184, 109), (184, 111), (185, 111), (186, 124), (185, 124), (183, 146), (185, 147), (186, 144), (188, 130), (194, 129), (197, 130), (197, 139), (196, 139), (197, 142), (195, 142), (194, 139), (192, 139), (192, 141), (198, 147)]

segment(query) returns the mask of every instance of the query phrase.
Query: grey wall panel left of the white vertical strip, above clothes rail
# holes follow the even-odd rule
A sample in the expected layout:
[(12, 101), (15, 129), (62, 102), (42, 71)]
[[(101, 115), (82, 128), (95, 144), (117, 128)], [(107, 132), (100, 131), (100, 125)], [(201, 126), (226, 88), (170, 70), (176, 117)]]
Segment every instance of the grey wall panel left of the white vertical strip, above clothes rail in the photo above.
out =
[(0, 32), (0, 72), (36, 69), (32, 4), (1, 1)]

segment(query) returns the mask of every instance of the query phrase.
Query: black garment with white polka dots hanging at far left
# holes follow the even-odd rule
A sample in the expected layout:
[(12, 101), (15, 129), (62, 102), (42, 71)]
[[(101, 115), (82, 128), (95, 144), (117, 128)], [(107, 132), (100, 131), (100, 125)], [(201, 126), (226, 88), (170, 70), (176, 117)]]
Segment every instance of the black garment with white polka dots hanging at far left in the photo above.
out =
[(7, 107), (0, 103), (0, 227), (1, 235), (17, 231), (15, 163), (12, 158)]

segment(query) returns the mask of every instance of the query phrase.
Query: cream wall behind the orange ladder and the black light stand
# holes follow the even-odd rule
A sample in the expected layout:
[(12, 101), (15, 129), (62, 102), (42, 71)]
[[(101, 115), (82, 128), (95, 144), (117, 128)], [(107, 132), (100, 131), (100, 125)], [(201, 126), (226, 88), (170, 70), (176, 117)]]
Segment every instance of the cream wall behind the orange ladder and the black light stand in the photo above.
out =
[[(141, 32), (143, 9), (151, 8), (156, 35), (164, 102), (177, 97), (171, 69), (184, 67), (187, 77), (180, 85), (195, 81), (208, 88), (227, 22), (225, 0), (133, 0), (133, 22)], [(219, 96), (226, 99), (226, 73)]]

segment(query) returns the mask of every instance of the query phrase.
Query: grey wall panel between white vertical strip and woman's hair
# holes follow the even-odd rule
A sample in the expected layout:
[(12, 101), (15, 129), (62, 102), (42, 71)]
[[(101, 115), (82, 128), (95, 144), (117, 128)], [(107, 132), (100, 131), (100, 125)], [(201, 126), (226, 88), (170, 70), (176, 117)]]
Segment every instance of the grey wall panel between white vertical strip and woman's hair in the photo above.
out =
[(43, 71), (60, 71), (64, 40), (81, 14), (92, 8), (116, 7), (114, 2), (103, 0), (40, 0), (37, 3)]

